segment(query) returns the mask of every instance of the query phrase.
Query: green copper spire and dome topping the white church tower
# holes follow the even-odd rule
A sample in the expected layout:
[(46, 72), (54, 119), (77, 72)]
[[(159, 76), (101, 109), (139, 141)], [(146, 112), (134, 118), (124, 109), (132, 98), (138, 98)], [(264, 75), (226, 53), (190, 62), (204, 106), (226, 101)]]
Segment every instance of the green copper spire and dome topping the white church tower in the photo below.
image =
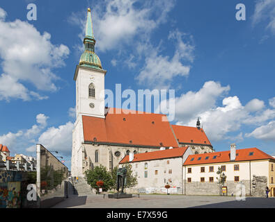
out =
[(95, 37), (93, 35), (93, 23), (90, 8), (88, 8), (84, 46), (85, 51), (81, 55), (79, 65), (84, 67), (91, 67), (94, 69), (102, 69), (100, 58), (98, 58), (98, 56), (95, 54)]

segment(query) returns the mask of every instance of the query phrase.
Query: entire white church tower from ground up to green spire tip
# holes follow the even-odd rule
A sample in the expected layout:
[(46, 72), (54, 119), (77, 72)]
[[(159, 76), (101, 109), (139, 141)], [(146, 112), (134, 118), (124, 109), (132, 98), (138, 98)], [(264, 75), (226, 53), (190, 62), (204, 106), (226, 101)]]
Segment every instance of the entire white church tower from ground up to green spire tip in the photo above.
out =
[(72, 176), (84, 176), (85, 157), (82, 116), (105, 118), (104, 78), (107, 71), (102, 69), (100, 58), (95, 54), (95, 37), (91, 9), (88, 8), (85, 51), (74, 72), (76, 83), (76, 121), (72, 130)]

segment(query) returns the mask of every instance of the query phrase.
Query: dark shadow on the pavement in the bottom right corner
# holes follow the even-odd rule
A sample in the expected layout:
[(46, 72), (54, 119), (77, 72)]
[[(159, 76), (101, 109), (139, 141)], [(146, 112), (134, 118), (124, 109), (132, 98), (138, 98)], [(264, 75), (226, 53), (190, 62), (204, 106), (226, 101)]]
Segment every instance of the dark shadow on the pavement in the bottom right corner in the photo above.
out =
[(275, 198), (246, 198), (190, 208), (275, 208)]

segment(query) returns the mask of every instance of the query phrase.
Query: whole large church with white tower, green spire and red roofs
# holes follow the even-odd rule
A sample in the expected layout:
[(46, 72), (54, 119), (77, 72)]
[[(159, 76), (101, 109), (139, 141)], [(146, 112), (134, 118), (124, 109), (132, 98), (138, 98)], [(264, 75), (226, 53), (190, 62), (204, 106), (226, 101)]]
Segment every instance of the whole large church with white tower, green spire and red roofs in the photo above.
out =
[(104, 107), (104, 78), (95, 54), (91, 10), (88, 10), (85, 51), (74, 73), (76, 114), (72, 133), (72, 176), (102, 164), (112, 170), (130, 152), (190, 145), (193, 153), (213, 152), (200, 124), (172, 126), (166, 115)]

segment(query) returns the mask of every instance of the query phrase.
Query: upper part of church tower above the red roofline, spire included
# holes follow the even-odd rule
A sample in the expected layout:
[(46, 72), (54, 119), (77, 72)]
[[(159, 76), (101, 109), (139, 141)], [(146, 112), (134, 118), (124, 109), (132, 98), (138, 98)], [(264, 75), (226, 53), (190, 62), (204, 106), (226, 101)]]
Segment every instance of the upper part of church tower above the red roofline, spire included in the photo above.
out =
[(104, 118), (104, 77), (100, 58), (95, 54), (95, 37), (91, 9), (88, 8), (85, 51), (74, 73), (76, 81), (76, 114)]

